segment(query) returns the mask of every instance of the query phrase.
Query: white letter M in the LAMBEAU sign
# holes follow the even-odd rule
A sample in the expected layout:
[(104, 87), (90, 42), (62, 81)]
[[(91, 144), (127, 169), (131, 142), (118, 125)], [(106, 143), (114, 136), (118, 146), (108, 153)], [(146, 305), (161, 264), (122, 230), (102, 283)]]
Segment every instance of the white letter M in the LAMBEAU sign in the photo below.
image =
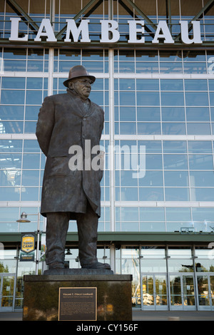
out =
[(76, 26), (76, 22), (73, 19), (67, 19), (67, 31), (65, 42), (71, 42), (70, 33), (73, 36), (73, 42), (78, 42), (78, 38), (81, 34), (81, 42), (91, 42), (88, 32), (88, 23), (90, 20), (82, 20), (79, 26)]

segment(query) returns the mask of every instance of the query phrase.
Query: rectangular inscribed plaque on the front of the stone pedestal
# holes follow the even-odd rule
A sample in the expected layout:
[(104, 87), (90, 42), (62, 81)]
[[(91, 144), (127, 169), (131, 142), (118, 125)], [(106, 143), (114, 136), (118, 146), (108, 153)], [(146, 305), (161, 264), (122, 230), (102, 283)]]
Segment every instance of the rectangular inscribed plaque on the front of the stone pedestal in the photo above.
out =
[(96, 321), (96, 287), (60, 287), (58, 321)]

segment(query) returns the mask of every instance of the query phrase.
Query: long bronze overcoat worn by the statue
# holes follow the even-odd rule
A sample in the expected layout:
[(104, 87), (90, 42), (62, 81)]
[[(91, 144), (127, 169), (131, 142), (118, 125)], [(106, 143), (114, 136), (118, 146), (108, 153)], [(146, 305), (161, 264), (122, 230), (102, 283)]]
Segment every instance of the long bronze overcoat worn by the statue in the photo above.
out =
[[(44, 216), (47, 212), (71, 212), (71, 219), (75, 219), (73, 213), (85, 212), (87, 201), (98, 216), (101, 215), (103, 170), (91, 167), (91, 160), (98, 160), (99, 152), (95, 150), (91, 156), (88, 152), (100, 143), (104, 113), (96, 103), (89, 99), (88, 102), (86, 111), (83, 100), (67, 90), (67, 93), (46, 97), (40, 108), (36, 137), (46, 155), (41, 195)], [(82, 150), (82, 166), (75, 148)], [(75, 164), (78, 163), (76, 168), (72, 168), (72, 157), (76, 158)]]

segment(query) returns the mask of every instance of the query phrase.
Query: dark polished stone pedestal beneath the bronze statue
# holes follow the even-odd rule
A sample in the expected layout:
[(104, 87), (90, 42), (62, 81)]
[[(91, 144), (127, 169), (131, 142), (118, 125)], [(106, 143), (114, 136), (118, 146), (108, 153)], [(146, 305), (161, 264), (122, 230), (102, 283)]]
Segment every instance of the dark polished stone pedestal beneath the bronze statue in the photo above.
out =
[(96, 287), (97, 321), (131, 321), (132, 276), (109, 270), (87, 271), (62, 269), (58, 274), (58, 270), (48, 270), (41, 276), (24, 276), (23, 320), (57, 321), (59, 288)]

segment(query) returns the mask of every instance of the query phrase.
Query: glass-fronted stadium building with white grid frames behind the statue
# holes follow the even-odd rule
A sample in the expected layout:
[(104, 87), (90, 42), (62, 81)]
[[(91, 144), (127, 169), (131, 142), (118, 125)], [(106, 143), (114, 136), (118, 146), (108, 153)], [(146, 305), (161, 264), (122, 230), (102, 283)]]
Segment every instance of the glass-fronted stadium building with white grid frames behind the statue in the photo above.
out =
[(75, 65), (105, 111), (99, 261), (133, 309), (214, 310), (214, 1), (1, 0), (0, 44), (0, 311), (46, 269), (36, 121)]

